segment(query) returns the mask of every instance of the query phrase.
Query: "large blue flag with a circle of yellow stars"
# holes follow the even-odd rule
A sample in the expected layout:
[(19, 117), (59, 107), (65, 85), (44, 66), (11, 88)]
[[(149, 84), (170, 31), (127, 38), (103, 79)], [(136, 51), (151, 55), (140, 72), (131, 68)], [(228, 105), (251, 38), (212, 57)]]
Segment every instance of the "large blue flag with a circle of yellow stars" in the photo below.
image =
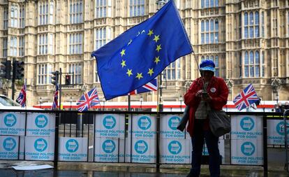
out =
[(127, 95), (193, 51), (178, 10), (169, 1), (158, 12), (92, 52), (106, 100)]

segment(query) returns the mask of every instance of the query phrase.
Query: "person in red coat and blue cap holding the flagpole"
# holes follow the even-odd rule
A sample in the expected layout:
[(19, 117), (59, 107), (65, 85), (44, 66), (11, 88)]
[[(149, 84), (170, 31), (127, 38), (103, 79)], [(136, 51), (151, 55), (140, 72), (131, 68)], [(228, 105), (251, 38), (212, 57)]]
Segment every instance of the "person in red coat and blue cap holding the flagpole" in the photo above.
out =
[(218, 137), (214, 136), (209, 129), (208, 112), (210, 109), (219, 111), (225, 106), (228, 100), (228, 87), (223, 78), (214, 76), (214, 71), (215, 64), (212, 60), (202, 61), (201, 78), (194, 80), (184, 95), (184, 103), (190, 106), (187, 131), (191, 135), (193, 146), (192, 167), (187, 177), (200, 176), (204, 138), (209, 152), (210, 174), (212, 177), (220, 176), (221, 157), (218, 150)]

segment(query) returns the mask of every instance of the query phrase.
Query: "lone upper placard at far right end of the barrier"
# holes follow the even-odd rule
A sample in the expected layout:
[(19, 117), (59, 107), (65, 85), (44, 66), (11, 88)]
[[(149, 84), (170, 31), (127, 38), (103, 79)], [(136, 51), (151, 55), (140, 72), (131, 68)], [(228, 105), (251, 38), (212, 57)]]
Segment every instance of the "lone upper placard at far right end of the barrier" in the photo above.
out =
[[(287, 139), (289, 139), (289, 123), (287, 125)], [(288, 141), (287, 141), (288, 142)], [(285, 145), (284, 120), (267, 120), (267, 144)]]

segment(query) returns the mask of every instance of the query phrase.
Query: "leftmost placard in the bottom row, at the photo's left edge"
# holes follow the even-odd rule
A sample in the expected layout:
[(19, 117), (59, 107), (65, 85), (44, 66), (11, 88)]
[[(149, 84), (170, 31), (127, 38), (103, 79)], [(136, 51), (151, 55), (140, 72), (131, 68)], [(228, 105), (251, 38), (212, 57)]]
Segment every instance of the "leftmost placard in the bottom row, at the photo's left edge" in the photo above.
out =
[(0, 160), (18, 159), (19, 136), (0, 136)]

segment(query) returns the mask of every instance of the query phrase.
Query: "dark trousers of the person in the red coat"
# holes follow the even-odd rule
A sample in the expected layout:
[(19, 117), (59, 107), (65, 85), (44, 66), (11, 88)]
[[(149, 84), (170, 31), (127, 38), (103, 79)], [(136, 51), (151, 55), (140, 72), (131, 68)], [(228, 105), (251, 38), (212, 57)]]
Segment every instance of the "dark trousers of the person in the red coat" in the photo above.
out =
[(203, 129), (204, 121), (205, 120), (195, 120), (193, 138), (191, 139), (193, 146), (192, 168), (188, 177), (200, 176), (204, 138), (209, 153), (209, 173), (211, 177), (220, 176), (221, 157), (218, 151), (218, 137), (214, 136), (210, 130)]

